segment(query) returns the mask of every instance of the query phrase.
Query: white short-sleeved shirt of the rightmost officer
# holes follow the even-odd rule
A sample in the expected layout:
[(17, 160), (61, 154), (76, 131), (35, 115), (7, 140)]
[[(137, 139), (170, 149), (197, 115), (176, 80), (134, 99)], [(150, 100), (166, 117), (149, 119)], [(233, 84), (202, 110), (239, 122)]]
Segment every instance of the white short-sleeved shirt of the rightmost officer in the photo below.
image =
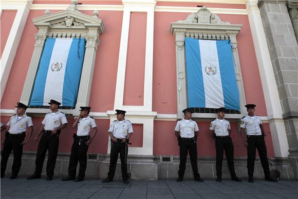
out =
[(246, 129), (247, 135), (262, 135), (260, 130), (260, 124), (262, 124), (262, 120), (259, 116), (250, 117), (249, 115), (245, 116), (241, 119), (240, 128)]

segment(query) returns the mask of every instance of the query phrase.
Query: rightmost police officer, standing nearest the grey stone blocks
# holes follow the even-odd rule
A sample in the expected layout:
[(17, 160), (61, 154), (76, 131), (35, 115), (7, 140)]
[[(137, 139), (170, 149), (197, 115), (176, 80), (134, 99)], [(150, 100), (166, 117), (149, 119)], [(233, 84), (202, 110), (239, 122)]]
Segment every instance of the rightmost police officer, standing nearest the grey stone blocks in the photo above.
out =
[[(271, 177), (269, 170), (269, 163), (267, 159), (267, 149), (264, 140), (265, 131), (262, 125), (262, 120), (254, 115), (255, 104), (246, 104), (248, 115), (243, 117), (240, 122), (241, 138), (243, 145), (247, 147), (247, 170), (248, 182), (253, 183), (253, 171), (255, 152), (257, 149), (260, 161), (264, 170), (265, 180), (277, 182), (277, 179)], [(246, 129), (246, 132), (244, 131)]]

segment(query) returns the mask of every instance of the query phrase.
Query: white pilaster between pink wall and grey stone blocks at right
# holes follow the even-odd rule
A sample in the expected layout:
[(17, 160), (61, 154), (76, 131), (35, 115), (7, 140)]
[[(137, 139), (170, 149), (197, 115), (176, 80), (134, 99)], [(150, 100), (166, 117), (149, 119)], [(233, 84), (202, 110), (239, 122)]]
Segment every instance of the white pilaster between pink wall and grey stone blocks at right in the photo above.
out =
[(280, 98), (278, 97), (273, 67), (267, 47), (262, 19), (257, 7), (257, 1), (249, 0), (247, 2), (247, 8), (249, 10), (249, 24), (255, 47), (260, 79), (262, 81), (267, 114), (268, 117), (273, 118), (269, 125), (273, 141), (274, 155), (275, 157), (287, 157), (289, 146), (285, 124), (282, 120), (282, 106)]

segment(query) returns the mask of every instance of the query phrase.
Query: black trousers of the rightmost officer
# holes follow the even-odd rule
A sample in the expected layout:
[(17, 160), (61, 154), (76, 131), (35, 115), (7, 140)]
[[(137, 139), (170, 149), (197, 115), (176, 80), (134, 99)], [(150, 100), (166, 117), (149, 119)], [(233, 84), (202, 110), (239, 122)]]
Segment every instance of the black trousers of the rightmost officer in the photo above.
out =
[(247, 170), (248, 176), (253, 177), (254, 161), (256, 149), (264, 170), (265, 177), (270, 177), (269, 163), (267, 159), (267, 149), (264, 137), (262, 135), (248, 135), (247, 136)]

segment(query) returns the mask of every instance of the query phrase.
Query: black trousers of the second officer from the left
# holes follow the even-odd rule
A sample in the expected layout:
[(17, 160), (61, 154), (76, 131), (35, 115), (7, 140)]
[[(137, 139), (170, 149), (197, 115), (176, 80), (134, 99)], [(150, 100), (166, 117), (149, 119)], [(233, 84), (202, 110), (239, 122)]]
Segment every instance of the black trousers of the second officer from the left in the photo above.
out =
[(57, 132), (57, 134), (55, 135), (51, 135), (51, 131), (44, 131), (39, 142), (38, 151), (36, 154), (34, 172), (35, 175), (41, 175), (46, 152), (48, 150), (46, 171), (48, 177), (53, 177), (59, 147), (59, 134), (60, 131)]

